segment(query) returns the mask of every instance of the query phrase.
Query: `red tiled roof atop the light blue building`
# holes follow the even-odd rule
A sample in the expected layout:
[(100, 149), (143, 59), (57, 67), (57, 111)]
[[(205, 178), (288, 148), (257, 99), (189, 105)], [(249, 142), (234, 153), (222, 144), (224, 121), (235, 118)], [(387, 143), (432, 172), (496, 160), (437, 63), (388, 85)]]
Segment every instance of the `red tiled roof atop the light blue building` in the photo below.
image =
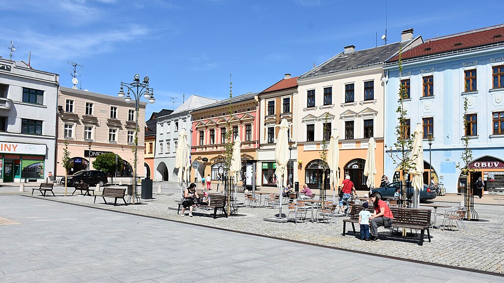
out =
[[(427, 39), (424, 43), (402, 53), (402, 58), (422, 57), (500, 42), (504, 42), (504, 25)], [(388, 62), (397, 60), (399, 60), (399, 55)]]

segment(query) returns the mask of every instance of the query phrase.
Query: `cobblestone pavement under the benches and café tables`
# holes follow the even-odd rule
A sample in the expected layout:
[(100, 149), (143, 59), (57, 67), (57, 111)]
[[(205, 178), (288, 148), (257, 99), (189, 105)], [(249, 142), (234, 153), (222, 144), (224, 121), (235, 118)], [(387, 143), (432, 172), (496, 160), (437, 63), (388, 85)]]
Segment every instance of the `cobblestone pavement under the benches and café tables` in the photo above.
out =
[[(504, 239), (501, 237), (501, 229), (504, 225), (504, 219), (501, 216), (504, 214), (504, 205), (475, 204), (480, 219), (484, 221), (465, 222), (467, 232), (459, 232), (457, 229), (445, 231), (430, 229), (431, 242), (425, 241), (423, 246), (419, 246), (417, 244), (418, 237), (395, 236), (383, 228), (379, 230), (381, 240), (378, 242), (360, 241), (353, 232), (349, 232), (346, 237), (343, 237), (341, 217), (337, 218), (336, 224), (304, 222), (296, 225), (294, 223), (279, 224), (263, 221), (266, 217), (278, 215), (278, 209), (271, 208), (242, 207), (239, 208), (238, 216), (228, 219), (210, 218), (210, 211), (207, 210), (197, 210), (195, 217), (192, 218), (180, 217), (176, 215), (176, 210), (169, 209), (169, 207), (175, 206), (174, 201), (180, 195), (179, 189), (174, 184), (169, 184), (168, 188), (166, 188), (166, 184), (163, 186), (163, 194), (154, 194), (154, 199), (143, 200), (141, 205), (114, 207), (113, 205), (105, 205), (100, 198), (97, 198), (97, 203), (93, 204), (92, 197), (81, 195), (47, 197), (47, 199), (354, 251), (504, 273)], [(61, 195), (61, 189), (57, 190), (55, 189), (56, 194)], [(155, 188), (154, 191), (157, 189)], [(239, 196), (240, 199), (242, 199), (241, 196)], [(445, 204), (453, 205), (453, 203)], [(442, 209), (438, 210), (438, 212), (440, 211)], [(287, 213), (286, 206), (284, 206), (283, 212)], [(438, 216), (438, 224), (442, 222), (442, 219), (442, 216)], [(347, 226), (347, 230), (351, 230), (351, 225)]]

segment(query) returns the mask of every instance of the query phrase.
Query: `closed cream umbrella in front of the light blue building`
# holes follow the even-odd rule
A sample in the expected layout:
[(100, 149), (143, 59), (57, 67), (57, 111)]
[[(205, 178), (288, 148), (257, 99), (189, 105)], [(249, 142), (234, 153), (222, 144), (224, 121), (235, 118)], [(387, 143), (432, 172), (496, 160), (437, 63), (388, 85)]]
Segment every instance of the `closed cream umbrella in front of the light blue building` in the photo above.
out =
[(412, 168), (408, 173), (412, 175), (412, 186), (414, 190), (414, 205), (418, 207), (418, 195), (423, 190), (423, 128), (420, 123), (416, 124), (413, 138), (413, 150), (411, 151), (410, 161)]

